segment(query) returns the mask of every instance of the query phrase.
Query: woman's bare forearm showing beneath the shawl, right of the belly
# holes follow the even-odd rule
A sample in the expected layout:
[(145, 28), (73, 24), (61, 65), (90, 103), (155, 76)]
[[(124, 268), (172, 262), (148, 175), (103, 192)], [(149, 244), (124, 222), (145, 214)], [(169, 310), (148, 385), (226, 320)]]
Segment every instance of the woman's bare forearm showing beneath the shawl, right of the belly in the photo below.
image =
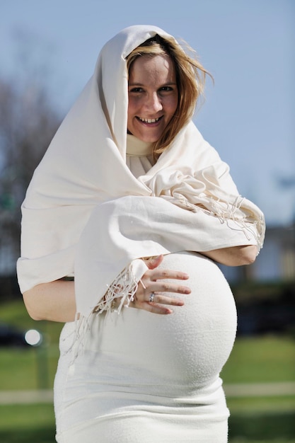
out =
[(206, 257), (226, 266), (242, 266), (254, 263), (257, 256), (257, 246), (233, 246), (231, 248), (214, 249), (202, 252)]

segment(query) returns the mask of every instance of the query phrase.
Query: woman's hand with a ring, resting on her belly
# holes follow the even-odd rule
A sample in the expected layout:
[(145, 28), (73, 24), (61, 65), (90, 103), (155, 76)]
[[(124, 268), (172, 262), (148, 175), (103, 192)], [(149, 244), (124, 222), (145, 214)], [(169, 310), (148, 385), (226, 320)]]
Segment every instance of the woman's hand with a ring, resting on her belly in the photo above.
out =
[[(134, 301), (129, 307), (144, 309), (153, 313), (168, 314), (173, 310), (168, 306), (183, 306), (185, 302), (178, 297), (171, 297), (169, 293), (190, 294), (189, 287), (180, 282), (163, 282), (162, 280), (187, 280), (189, 276), (185, 272), (158, 269), (163, 261), (163, 255), (144, 260), (149, 270), (147, 270), (139, 281)], [(168, 305), (168, 306), (167, 306)]]

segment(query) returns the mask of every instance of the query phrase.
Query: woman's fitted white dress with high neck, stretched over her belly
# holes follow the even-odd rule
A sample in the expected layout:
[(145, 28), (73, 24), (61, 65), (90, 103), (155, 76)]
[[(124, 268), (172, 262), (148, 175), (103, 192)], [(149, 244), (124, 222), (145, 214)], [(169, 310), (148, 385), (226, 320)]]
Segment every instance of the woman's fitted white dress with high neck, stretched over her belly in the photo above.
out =
[[(135, 176), (151, 167), (142, 149), (127, 156)], [(227, 442), (219, 373), (236, 337), (231, 289), (198, 253), (166, 255), (161, 267), (190, 275), (192, 292), (172, 314), (124, 308), (92, 315), (75, 358), (75, 325), (64, 326), (54, 381), (57, 442)]]

